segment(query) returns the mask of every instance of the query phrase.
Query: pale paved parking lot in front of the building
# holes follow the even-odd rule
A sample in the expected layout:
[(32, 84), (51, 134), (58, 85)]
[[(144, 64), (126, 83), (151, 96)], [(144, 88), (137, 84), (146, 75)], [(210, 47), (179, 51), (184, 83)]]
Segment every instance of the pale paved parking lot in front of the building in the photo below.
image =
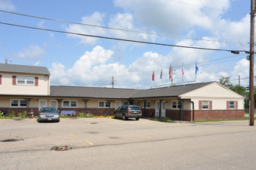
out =
[(255, 169), (255, 130), (248, 121), (0, 119), (0, 164), (1, 169)]

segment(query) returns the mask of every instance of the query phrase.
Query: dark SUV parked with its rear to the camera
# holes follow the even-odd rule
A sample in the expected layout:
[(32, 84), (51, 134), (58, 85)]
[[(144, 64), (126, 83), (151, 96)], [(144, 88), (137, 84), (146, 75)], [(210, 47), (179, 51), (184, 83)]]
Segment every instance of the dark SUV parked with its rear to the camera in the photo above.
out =
[(114, 118), (122, 117), (123, 121), (126, 121), (129, 117), (140, 120), (142, 110), (137, 105), (123, 105), (118, 107), (114, 112)]

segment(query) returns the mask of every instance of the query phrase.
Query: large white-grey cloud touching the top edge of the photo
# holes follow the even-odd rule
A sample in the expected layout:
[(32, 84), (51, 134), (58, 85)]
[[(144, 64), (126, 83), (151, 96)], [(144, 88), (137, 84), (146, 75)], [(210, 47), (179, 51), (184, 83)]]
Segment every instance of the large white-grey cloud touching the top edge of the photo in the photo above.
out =
[(157, 31), (178, 33), (183, 30), (189, 30), (192, 26), (199, 26), (204, 29), (209, 29), (213, 26), (213, 17), (220, 15), (219, 11), (210, 14), (202, 12), (207, 5), (216, 8), (227, 8), (229, 0), (217, 1), (199, 1), (201, 7), (193, 4), (191, 1), (182, 1), (178, 3), (169, 0), (115, 0), (114, 4), (118, 7), (125, 8), (127, 11), (132, 11), (141, 25), (149, 26)]

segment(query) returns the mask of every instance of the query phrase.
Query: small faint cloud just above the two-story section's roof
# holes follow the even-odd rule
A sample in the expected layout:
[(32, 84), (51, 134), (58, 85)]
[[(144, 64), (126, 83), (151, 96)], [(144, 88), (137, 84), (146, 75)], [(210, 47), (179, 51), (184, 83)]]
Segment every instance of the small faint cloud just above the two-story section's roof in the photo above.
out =
[(31, 45), (26, 47), (25, 49), (22, 49), (15, 56), (26, 60), (37, 60), (40, 59), (40, 57), (44, 54), (46, 54), (45, 49), (38, 45)]

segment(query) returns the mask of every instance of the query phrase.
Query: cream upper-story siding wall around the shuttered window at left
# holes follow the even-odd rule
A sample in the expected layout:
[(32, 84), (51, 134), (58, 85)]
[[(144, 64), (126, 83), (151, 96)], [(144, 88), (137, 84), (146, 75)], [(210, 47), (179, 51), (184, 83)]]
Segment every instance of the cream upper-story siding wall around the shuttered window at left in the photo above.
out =
[[(1, 94), (21, 94), (21, 95), (49, 95), (50, 80), (44, 75), (26, 75), (17, 73), (2, 74), (2, 85), (0, 85)], [(34, 85), (12, 85), (12, 76), (33, 76), (38, 77), (38, 86)]]

